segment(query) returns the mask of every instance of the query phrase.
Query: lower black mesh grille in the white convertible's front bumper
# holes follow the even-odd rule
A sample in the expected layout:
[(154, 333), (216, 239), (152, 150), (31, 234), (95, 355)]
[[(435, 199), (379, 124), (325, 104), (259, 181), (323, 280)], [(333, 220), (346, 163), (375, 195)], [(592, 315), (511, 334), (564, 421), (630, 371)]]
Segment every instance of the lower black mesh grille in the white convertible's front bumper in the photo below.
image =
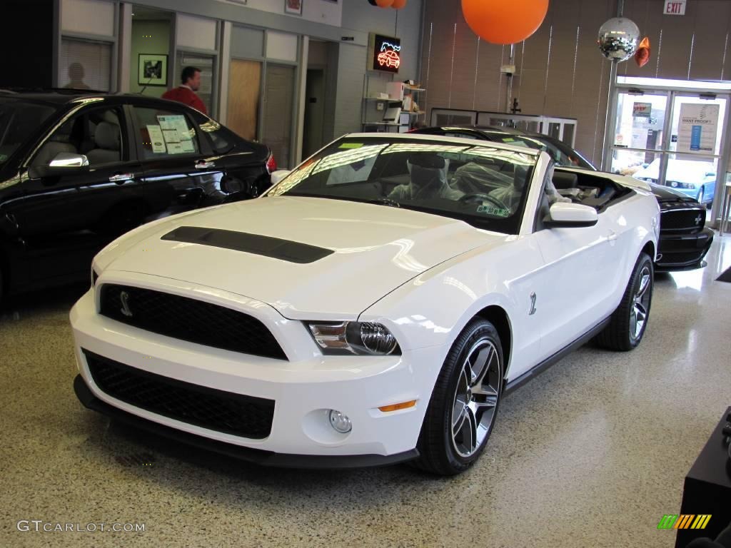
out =
[(274, 400), (224, 392), (149, 373), (84, 351), (91, 378), (103, 392), (131, 406), (243, 438), (266, 438)]

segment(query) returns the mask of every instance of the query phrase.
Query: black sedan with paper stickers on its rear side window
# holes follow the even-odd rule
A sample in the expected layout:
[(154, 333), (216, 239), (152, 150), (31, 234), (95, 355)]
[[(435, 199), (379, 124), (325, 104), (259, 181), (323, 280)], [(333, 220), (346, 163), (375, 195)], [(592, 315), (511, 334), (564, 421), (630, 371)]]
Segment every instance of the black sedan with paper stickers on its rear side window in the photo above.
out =
[(87, 91), (0, 91), (0, 300), (88, 277), (147, 221), (255, 197), (269, 149), (183, 104)]

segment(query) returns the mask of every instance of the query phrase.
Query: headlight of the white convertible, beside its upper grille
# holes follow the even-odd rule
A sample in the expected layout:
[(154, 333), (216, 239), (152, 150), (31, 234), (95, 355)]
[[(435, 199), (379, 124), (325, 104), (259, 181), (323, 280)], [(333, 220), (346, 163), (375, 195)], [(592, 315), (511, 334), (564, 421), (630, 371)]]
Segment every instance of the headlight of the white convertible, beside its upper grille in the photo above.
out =
[(401, 354), (396, 338), (385, 325), (372, 321), (308, 322), (323, 354)]

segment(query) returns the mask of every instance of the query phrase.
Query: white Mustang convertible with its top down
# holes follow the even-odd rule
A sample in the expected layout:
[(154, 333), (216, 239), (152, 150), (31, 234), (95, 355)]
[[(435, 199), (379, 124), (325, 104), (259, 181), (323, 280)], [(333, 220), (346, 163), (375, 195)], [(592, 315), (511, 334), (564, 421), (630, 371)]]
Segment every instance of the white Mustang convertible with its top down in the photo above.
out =
[(643, 181), (348, 135), (259, 199), (99, 253), (71, 312), (75, 391), (257, 463), (459, 473), (511, 389), (590, 338), (640, 343), (658, 232)]

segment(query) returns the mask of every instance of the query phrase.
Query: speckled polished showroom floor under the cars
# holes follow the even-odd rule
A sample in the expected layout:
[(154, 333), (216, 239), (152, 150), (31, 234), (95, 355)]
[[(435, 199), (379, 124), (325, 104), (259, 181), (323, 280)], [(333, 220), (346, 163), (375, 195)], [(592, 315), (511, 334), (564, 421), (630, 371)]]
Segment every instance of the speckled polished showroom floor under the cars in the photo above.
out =
[(452, 479), (258, 468), (110, 425), (72, 392), (83, 288), (25, 297), (0, 321), (0, 547), (671, 547), (657, 523), (731, 405), (724, 240), (705, 270), (657, 276), (639, 349), (584, 347), (507, 397), (480, 462)]

